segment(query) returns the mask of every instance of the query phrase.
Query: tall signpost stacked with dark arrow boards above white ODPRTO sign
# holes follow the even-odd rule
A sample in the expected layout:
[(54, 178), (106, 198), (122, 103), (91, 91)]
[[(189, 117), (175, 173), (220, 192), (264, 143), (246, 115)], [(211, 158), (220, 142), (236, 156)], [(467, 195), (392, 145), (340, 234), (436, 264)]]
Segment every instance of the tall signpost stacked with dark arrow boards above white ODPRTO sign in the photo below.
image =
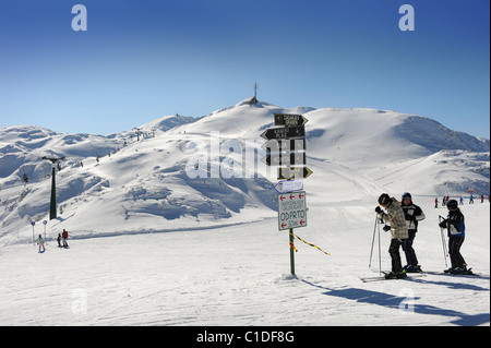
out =
[(267, 166), (279, 166), (275, 190), (278, 194), (278, 229), (289, 231), (290, 269), (295, 275), (294, 229), (307, 226), (307, 203), (303, 179), (312, 175), (307, 165), (306, 123), (302, 115), (275, 113), (275, 125), (265, 130), (261, 137), (267, 142), (262, 146), (267, 151), (263, 161)]

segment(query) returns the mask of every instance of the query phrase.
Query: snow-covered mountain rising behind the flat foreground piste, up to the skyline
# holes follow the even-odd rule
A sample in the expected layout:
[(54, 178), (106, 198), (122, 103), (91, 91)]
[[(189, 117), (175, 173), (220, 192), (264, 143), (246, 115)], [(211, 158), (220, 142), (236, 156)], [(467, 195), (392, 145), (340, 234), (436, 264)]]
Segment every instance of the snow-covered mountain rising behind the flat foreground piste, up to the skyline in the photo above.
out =
[(65, 157), (57, 172), (59, 217), (48, 225), (53, 231), (108, 235), (271, 218), (276, 171), (261, 160), (260, 135), (276, 112), (309, 120), (308, 167), (314, 175), (306, 189), (312, 204), (371, 200), (382, 191), (440, 196), (472, 188), (489, 194), (489, 140), (395, 111), (248, 101), (109, 136), (1, 129), (1, 240), (17, 240), (20, 231), (28, 238), (31, 221), (48, 217), (51, 164), (43, 156)]

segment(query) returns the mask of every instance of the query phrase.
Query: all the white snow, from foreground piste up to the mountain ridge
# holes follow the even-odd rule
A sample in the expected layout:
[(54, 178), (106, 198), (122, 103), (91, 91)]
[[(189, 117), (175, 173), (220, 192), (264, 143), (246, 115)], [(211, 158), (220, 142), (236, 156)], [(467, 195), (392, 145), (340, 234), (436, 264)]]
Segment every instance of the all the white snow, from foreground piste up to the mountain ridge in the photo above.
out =
[[(445, 268), (438, 220), (446, 211), (434, 196), (469, 187), (489, 194), (489, 140), (394, 111), (246, 101), (136, 127), (140, 141), (134, 130), (0, 130), (0, 274), (11, 280), (0, 284), (0, 325), (489, 325), (487, 201), (463, 207), (463, 254), (486, 277), (359, 279), (376, 275), (368, 267), (373, 208), (385, 191), (414, 194), (427, 214), (419, 262)], [(275, 112), (309, 119), (309, 224), (296, 233), (331, 253), (296, 240), (297, 277), (288, 233), (277, 231), (275, 170), (261, 160), (260, 134)], [(32, 239), (45, 233), (50, 194), (50, 165), (39, 157), (49, 154), (67, 159), (57, 172), (60, 214), (38, 254)], [(69, 250), (56, 248), (62, 228)], [(383, 231), (381, 244), (388, 269)]]

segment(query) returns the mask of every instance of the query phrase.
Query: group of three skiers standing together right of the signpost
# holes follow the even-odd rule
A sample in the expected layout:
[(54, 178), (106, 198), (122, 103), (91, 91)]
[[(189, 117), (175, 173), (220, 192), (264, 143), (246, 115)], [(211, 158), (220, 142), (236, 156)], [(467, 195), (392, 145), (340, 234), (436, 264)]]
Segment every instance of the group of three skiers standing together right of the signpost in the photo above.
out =
[[(385, 275), (387, 279), (405, 278), (406, 273), (420, 273), (418, 259), (412, 248), (412, 242), (418, 231), (418, 223), (426, 218), (422, 209), (412, 203), (411, 194), (406, 192), (402, 196), (402, 202), (383, 193), (379, 197), (379, 205), (375, 212), (382, 223), (384, 230), (391, 231), (391, 247), (388, 253), (392, 261), (392, 272)], [(464, 215), (458, 208), (458, 202), (448, 200), (446, 202), (448, 216), (440, 221), (439, 226), (447, 230), (448, 253), (452, 266), (445, 273), (467, 274), (467, 264), (460, 254), (460, 247), (465, 239)], [(406, 253), (407, 265), (403, 267), (399, 249)]]

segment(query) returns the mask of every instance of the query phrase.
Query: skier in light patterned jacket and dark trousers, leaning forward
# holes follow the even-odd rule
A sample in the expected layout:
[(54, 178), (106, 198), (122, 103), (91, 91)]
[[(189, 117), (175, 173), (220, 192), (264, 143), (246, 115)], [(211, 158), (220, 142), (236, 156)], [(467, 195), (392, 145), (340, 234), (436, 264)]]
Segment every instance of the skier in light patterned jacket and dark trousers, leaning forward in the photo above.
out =
[(399, 279), (407, 277), (406, 272), (403, 271), (403, 264), (400, 261), (399, 248), (403, 241), (409, 237), (406, 219), (404, 217), (404, 211), (400, 207), (400, 203), (391, 197), (388, 194), (383, 193), (379, 197), (379, 205), (385, 208), (385, 212), (380, 207), (375, 207), (375, 212), (380, 218), (390, 225), (384, 227), (384, 231), (391, 231), (391, 247), (388, 253), (392, 260), (392, 272), (385, 275), (386, 279)]

